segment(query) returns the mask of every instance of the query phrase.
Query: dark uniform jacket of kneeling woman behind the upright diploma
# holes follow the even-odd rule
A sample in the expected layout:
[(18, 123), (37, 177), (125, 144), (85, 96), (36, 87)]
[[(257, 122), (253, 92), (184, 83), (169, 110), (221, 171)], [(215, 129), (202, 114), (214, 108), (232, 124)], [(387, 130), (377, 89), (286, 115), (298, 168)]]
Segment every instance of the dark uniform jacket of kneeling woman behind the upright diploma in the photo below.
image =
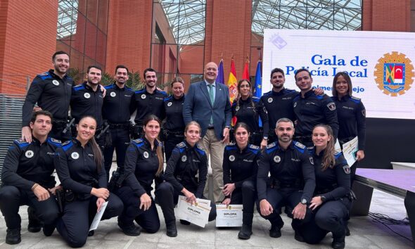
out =
[(241, 151), (236, 143), (231, 143), (224, 150), (224, 184), (235, 184), (239, 189), (243, 181), (256, 181), (260, 147), (248, 144)]

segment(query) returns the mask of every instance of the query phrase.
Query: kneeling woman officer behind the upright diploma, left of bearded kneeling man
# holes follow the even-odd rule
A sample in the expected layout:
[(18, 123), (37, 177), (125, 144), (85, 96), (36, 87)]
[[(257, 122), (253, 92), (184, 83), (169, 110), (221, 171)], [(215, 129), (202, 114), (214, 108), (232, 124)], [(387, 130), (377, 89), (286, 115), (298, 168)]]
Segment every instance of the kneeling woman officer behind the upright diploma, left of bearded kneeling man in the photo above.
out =
[(249, 239), (255, 203), (255, 179), (260, 147), (248, 143), (248, 125), (238, 122), (234, 128), (236, 143), (224, 150), (224, 195), (222, 204), (243, 204), (242, 228), (238, 238)]

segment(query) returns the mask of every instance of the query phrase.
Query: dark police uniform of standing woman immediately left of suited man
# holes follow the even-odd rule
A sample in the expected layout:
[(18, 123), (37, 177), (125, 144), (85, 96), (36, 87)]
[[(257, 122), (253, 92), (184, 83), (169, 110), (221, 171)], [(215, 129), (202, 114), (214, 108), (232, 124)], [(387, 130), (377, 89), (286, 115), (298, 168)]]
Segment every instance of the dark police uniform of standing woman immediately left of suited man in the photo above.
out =
[(164, 99), (163, 116), (166, 117), (165, 126), (165, 153), (166, 161), (169, 160), (174, 146), (184, 140), (184, 119), (183, 119), (183, 104), (185, 96), (181, 98), (174, 98), (169, 96)]

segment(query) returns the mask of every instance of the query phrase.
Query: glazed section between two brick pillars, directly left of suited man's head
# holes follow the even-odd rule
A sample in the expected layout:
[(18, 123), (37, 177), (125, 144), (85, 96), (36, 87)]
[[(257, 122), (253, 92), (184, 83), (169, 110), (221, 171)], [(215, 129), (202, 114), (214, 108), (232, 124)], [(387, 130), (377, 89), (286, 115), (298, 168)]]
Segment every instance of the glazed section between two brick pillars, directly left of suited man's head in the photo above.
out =
[(203, 79), (205, 16), (205, 0), (153, 1), (151, 68), (159, 84), (176, 76), (186, 83)]

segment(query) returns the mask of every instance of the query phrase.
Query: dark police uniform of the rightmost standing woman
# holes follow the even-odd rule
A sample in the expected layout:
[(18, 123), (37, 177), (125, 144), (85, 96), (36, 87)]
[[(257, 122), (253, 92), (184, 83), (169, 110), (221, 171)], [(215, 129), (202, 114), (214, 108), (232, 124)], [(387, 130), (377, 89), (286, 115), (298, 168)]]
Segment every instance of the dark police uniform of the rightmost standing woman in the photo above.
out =
[[(360, 98), (355, 96), (343, 96), (338, 98), (336, 96), (331, 97), (336, 103), (337, 118), (338, 118), (338, 141), (340, 146), (357, 136), (359, 151), (364, 151), (364, 144), (366, 142), (366, 109)], [(357, 168), (357, 162), (355, 162), (350, 169), (352, 174), (351, 179), (354, 178)]]

